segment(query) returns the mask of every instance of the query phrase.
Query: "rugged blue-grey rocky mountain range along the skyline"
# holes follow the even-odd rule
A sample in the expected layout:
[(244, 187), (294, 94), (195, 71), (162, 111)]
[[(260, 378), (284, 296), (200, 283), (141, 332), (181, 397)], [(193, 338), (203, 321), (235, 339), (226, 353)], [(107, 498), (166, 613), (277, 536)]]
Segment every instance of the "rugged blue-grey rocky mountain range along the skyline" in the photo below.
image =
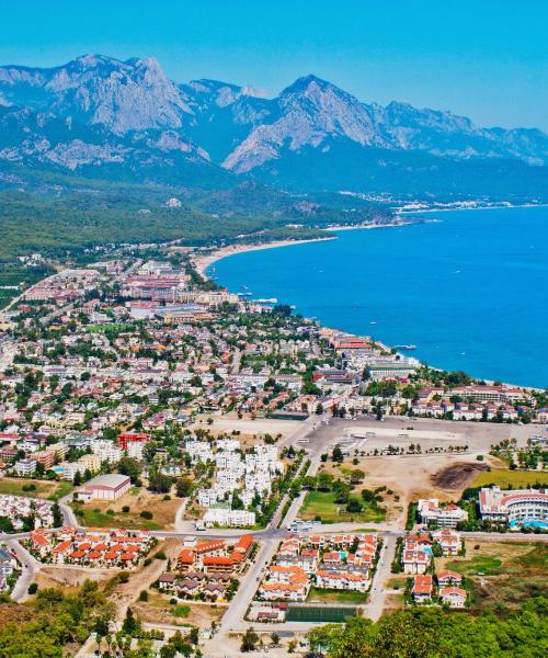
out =
[(0, 67), (0, 171), (535, 197), (545, 193), (547, 163), (548, 136), (538, 129), (367, 104), (315, 76), (266, 99), (215, 80), (174, 82), (152, 58)]

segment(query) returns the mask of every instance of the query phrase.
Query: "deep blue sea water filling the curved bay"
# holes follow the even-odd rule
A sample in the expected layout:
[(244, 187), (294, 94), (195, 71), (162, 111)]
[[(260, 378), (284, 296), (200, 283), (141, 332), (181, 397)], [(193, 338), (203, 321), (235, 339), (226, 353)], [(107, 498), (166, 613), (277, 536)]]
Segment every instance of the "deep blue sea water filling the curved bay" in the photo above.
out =
[(416, 344), (433, 366), (548, 386), (548, 208), (424, 216), (435, 222), (243, 252), (208, 273), (329, 327)]

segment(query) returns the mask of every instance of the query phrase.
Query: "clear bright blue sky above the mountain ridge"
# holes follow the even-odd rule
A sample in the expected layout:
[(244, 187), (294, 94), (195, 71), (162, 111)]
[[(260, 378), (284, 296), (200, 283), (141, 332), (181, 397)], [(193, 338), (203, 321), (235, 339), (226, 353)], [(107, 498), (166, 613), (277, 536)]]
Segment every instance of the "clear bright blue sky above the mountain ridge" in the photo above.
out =
[(277, 93), (313, 72), (361, 100), (548, 129), (548, 0), (1, 0), (0, 64), (155, 56), (176, 80)]

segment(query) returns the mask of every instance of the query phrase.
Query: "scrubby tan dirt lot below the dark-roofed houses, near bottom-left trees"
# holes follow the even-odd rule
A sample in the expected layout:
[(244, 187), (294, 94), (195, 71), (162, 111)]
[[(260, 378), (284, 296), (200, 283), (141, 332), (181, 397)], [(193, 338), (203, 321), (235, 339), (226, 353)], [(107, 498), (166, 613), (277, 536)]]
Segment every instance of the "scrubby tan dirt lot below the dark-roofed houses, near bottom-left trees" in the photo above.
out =
[(198, 626), (209, 628), (212, 622), (219, 622), (225, 614), (226, 605), (209, 605), (181, 601), (172, 605), (168, 594), (151, 590), (148, 601), (137, 601), (132, 610), (150, 624), (172, 624), (175, 626)]

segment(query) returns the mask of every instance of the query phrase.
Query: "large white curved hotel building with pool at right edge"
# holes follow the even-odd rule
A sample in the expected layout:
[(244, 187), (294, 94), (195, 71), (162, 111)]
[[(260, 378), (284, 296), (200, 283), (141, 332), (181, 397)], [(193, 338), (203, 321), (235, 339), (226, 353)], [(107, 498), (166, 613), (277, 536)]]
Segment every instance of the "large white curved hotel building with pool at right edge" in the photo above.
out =
[(500, 487), (482, 488), (479, 495), (482, 519), (500, 523), (546, 522), (548, 494), (545, 489), (503, 491)]

